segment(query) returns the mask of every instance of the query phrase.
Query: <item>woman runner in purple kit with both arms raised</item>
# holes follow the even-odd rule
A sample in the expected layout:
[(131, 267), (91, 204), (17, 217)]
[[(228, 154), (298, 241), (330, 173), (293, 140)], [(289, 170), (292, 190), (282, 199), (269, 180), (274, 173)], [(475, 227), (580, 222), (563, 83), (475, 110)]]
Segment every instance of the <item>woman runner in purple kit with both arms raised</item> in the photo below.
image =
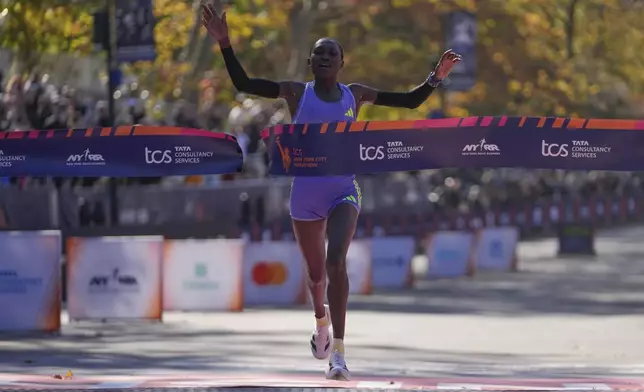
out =
[[(230, 45), (226, 12), (216, 11), (221, 1), (203, 5), (203, 25), (217, 40), (230, 78), (240, 92), (265, 98), (286, 100), (293, 123), (353, 121), (364, 104), (415, 109), (420, 106), (451, 72), (461, 56), (448, 50), (434, 72), (409, 92), (378, 91), (360, 84), (338, 83), (344, 66), (339, 42), (322, 38), (315, 43), (309, 58), (314, 81), (274, 82), (249, 78)], [(349, 297), (346, 255), (353, 238), (362, 195), (355, 176), (296, 177), (291, 189), (290, 210), (293, 231), (306, 260), (308, 283), (315, 312), (311, 351), (317, 359), (329, 358), (327, 378), (349, 380), (344, 359), (344, 329)], [(327, 249), (324, 249), (328, 237)], [(329, 284), (324, 304), (325, 275)], [(333, 341), (330, 326), (333, 325)]]

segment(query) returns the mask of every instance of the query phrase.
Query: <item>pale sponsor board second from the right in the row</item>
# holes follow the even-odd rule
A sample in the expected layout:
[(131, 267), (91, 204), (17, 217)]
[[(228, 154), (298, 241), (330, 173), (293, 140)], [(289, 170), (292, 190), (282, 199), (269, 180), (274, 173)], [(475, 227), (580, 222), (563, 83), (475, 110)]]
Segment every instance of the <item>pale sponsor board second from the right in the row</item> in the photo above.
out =
[(470, 268), (473, 235), (458, 231), (439, 231), (427, 247), (430, 278), (466, 275)]

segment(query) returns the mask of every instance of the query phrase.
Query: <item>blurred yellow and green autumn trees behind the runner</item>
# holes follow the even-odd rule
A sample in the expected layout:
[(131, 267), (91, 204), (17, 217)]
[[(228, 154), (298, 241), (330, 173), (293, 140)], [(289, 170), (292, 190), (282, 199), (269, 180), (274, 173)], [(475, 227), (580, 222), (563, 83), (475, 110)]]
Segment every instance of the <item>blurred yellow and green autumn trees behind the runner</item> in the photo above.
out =
[[(96, 0), (100, 2), (99, 0)], [(420, 83), (445, 50), (442, 15), (475, 12), (478, 83), (467, 93), (432, 96), (418, 110), (367, 107), (362, 118), (558, 115), (629, 117), (644, 101), (644, 7), (624, 0), (230, 0), (231, 38), (251, 75), (310, 78), (316, 38), (345, 48), (344, 82), (384, 90)], [(200, 27), (199, 0), (155, 0), (155, 62), (127, 67), (153, 94), (196, 99), (207, 71), (219, 99), (233, 99), (218, 48)], [(73, 5), (73, 6), (72, 6)], [(91, 51), (96, 2), (0, 0), (8, 9), (0, 46), (33, 67), (39, 54)], [(467, 58), (464, 59), (468, 61)], [(641, 110), (641, 108), (640, 108)]]

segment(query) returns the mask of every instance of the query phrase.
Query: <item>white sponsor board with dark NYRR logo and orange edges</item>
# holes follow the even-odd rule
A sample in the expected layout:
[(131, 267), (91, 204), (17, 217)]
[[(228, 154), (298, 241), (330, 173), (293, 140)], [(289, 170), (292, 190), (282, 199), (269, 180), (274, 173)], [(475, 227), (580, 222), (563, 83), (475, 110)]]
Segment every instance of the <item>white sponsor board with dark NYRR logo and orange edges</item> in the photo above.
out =
[(162, 237), (70, 238), (70, 319), (160, 319)]

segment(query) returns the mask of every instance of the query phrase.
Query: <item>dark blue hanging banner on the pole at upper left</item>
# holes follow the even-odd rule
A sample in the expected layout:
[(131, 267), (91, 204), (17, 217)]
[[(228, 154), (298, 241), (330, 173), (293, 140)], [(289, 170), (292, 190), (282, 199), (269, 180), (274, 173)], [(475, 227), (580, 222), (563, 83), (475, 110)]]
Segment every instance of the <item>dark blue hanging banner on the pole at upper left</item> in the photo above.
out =
[(153, 61), (154, 8), (152, 0), (118, 0), (116, 3), (116, 57), (119, 62)]

